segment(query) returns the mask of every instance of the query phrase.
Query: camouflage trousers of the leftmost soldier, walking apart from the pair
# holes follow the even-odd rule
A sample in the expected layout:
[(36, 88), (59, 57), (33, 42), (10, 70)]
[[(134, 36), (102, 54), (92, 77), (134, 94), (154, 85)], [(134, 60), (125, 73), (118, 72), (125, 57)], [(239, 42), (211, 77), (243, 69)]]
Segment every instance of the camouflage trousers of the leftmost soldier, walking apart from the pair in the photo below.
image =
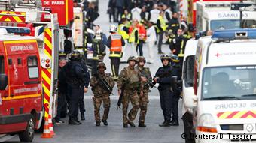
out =
[(109, 98), (109, 94), (105, 94), (105, 95), (94, 95), (94, 117), (95, 117), (95, 121), (99, 122), (100, 121), (100, 114), (99, 114), (99, 110), (100, 110), (100, 106), (102, 105), (102, 101), (103, 101), (103, 107), (104, 107), (104, 114), (102, 116), (102, 120), (107, 120), (108, 119), (108, 113), (109, 113), (109, 108), (110, 108), (110, 98)]

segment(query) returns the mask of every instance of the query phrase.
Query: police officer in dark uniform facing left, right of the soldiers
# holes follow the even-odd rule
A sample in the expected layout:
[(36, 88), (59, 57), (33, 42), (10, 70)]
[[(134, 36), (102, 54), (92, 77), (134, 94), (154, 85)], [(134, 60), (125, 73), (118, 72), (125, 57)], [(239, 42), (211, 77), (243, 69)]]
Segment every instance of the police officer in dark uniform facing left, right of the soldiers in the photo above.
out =
[(164, 121), (160, 127), (169, 127), (172, 115), (172, 67), (170, 66), (169, 55), (161, 55), (160, 57), (163, 67), (157, 70), (154, 76), (154, 82), (159, 83), (158, 91), (160, 94), (160, 105), (163, 110)]

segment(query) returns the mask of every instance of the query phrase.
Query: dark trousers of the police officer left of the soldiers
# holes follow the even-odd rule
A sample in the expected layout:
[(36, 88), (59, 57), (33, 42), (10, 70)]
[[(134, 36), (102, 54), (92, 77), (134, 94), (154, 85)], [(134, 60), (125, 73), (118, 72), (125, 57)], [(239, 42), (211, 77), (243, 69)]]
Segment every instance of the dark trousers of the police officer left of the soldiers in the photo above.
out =
[(78, 106), (84, 103), (84, 87), (72, 88), (69, 105), (69, 118), (78, 121)]

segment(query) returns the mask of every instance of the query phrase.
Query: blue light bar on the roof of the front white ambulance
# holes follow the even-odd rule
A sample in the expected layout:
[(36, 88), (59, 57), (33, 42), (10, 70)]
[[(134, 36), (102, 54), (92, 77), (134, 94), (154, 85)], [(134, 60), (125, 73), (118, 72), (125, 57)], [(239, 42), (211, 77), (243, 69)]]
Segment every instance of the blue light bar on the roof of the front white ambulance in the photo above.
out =
[(217, 30), (212, 35), (212, 40), (256, 39), (256, 29), (241, 28), (230, 30)]

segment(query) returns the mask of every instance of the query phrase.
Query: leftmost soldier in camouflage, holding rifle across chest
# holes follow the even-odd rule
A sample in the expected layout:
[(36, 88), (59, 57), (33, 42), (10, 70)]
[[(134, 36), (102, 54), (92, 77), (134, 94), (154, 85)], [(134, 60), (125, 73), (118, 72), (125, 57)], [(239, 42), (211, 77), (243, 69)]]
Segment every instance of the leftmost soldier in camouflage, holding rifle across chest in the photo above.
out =
[[(102, 117), (102, 122), (105, 126), (108, 125), (108, 112), (110, 108), (110, 98), (109, 95), (111, 94), (111, 90), (114, 87), (114, 79), (112, 79), (110, 73), (105, 73), (106, 67), (103, 62), (99, 62), (97, 65), (97, 73), (92, 76), (90, 79), (90, 86), (92, 87), (92, 91), (94, 94), (93, 102), (94, 102), (94, 116), (96, 120), (96, 126), (100, 126), (100, 115), (99, 109), (103, 101), (104, 106), (104, 115)], [(109, 85), (111, 90), (109, 91), (108, 88), (102, 82), (102, 79), (105, 79), (105, 82)]]

